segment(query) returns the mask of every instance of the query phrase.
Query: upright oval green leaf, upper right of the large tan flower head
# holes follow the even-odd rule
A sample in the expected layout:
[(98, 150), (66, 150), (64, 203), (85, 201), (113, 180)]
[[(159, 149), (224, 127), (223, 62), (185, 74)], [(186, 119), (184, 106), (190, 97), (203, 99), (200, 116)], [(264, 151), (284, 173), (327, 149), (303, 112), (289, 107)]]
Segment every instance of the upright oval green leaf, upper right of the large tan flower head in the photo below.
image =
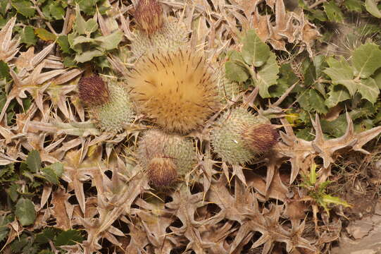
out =
[(263, 66), (270, 56), (270, 47), (268, 44), (256, 35), (255, 30), (249, 30), (243, 40), (242, 57), (244, 61), (255, 67)]

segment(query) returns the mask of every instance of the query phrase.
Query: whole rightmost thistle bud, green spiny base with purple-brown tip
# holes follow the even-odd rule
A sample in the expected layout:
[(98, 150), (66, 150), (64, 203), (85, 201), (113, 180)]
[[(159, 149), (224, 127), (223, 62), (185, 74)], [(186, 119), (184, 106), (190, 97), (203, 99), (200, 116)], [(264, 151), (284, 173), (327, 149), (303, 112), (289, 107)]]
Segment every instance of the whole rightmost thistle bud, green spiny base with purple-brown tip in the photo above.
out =
[(211, 131), (211, 145), (223, 161), (245, 164), (270, 150), (278, 135), (268, 119), (237, 108), (225, 112), (216, 121)]

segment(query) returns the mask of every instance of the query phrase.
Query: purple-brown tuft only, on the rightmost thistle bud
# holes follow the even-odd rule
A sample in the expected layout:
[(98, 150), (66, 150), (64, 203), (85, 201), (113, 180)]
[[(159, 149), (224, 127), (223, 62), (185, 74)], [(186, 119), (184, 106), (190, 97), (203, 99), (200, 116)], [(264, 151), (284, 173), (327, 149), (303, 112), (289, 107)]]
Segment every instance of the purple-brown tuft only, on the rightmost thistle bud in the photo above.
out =
[(251, 150), (258, 153), (268, 152), (278, 141), (280, 135), (272, 124), (250, 126), (242, 137)]

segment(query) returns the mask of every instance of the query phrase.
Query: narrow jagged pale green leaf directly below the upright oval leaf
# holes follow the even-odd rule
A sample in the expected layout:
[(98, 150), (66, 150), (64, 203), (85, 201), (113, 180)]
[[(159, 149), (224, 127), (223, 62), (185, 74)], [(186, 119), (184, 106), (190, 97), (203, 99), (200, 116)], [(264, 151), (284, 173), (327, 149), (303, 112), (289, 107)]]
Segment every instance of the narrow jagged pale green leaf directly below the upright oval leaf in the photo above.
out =
[(277, 57), (271, 52), (266, 64), (259, 68), (259, 71), (256, 73), (255, 84), (259, 87), (259, 95), (262, 98), (271, 97), (268, 93), (268, 87), (277, 83), (277, 73), (279, 73)]

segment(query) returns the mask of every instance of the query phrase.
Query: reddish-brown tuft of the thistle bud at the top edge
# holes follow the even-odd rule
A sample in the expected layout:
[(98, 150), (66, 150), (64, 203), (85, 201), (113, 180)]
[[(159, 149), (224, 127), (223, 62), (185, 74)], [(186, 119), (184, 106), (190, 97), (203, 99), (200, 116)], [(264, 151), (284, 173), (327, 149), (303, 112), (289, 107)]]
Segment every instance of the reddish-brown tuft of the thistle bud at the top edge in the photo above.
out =
[(163, 8), (157, 0), (139, 0), (135, 20), (141, 30), (152, 35), (163, 25)]

